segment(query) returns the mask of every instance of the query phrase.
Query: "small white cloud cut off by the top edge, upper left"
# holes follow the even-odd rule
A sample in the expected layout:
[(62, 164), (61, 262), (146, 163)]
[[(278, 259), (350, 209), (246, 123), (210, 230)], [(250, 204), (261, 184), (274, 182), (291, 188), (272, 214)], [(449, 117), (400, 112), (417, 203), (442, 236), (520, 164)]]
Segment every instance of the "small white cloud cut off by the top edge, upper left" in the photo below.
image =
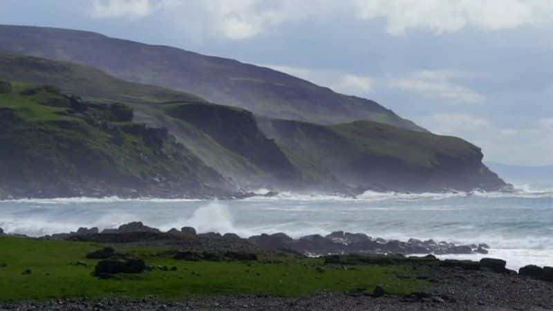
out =
[(93, 0), (91, 15), (95, 18), (145, 17), (155, 4), (149, 0)]

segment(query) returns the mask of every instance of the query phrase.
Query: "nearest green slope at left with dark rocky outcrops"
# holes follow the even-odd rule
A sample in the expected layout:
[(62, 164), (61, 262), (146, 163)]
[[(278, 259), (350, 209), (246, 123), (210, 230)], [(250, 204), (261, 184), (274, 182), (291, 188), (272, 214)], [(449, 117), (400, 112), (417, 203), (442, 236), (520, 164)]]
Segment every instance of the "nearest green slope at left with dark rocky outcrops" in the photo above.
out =
[(214, 196), (230, 186), (124, 104), (0, 83), (0, 196)]

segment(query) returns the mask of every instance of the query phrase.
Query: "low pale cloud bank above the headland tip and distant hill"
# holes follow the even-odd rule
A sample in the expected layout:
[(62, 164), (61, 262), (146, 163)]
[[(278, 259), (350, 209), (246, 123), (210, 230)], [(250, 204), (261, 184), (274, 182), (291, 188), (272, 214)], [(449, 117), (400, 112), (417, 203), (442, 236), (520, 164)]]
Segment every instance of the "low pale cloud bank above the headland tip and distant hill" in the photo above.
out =
[(553, 118), (536, 120), (521, 129), (462, 113), (437, 113), (415, 117), (414, 121), (434, 133), (461, 137), (476, 144), (489, 161), (538, 165), (551, 164), (553, 159)]

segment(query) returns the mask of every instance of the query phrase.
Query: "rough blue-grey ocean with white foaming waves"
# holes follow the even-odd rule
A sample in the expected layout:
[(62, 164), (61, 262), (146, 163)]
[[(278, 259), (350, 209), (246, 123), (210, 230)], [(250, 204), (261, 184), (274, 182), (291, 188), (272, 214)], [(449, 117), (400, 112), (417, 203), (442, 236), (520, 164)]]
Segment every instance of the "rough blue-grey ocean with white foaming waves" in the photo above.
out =
[[(260, 194), (263, 191), (260, 190)], [(553, 187), (518, 187), (514, 193), (395, 194), (357, 198), (281, 193), (244, 200), (59, 198), (0, 201), (7, 233), (44, 236), (78, 227), (118, 227), (142, 221), (163, 230), (234, 232), (247, 237), (284, 232), (294, 238), (337, 230), (373, 237), (452, 243), (487, 243), (488, 257), (507, 267), (553, 266)], [(484, 255), (442, 258), (479, 259)]]

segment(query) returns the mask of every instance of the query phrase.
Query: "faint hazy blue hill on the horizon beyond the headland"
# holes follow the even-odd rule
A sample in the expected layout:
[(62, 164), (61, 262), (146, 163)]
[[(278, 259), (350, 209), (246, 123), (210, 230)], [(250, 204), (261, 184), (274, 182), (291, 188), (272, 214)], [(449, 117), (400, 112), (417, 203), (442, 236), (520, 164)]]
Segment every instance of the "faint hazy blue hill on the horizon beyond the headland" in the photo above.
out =
[(509, 182), (553, 185), (553, 165), (521, 166), (498, 162), (486, 162)]

